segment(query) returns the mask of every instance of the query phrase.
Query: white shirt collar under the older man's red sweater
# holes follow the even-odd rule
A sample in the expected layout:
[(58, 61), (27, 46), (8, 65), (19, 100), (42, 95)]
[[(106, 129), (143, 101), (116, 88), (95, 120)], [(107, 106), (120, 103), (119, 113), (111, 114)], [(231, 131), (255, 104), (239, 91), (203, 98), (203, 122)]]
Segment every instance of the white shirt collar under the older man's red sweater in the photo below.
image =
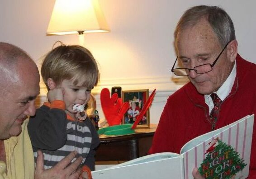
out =
[[(223, 83), (223, 85), (221, 85), (221, 87), (217, 90), (217, 92), (214, 92), (218, 95), (218, 97), (222, 101), (231, 92), (232, 86), (234, 85), (234, 82), (235, 82), (236, 75), (237, 75), (237, 61), (235, 61), (235, 65), (233, 66), (233, 69), (232, 69), (231, 73), (229, 74), (227, 80)], [(205, 94), (204, 101), (209, 106), (209, 114), (210, 114), (214, 107), (213, 99), (211, 98), (211, 94)]]

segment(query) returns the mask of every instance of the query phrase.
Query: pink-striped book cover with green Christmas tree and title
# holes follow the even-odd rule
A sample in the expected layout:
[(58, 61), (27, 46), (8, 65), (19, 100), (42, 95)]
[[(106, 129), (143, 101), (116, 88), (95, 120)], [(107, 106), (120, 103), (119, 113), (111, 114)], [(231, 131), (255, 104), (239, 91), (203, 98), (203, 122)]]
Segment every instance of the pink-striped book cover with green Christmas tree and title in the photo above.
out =
[[(199, 170), (201, 167), (206, 179), (213, 179), (214, 177), (218, 179), (228, 177), (232, 177), (232, 179), (247, 178), (253, 122), (254, 115), (247, 116), (186, 143), (180, 151), (184, 156), (184, 178), (193, 179), (192, 170), (195, 166)], [(240, 164), (234, 163), (238, 159), (246, 165), (242, 165), (243, 169)]]

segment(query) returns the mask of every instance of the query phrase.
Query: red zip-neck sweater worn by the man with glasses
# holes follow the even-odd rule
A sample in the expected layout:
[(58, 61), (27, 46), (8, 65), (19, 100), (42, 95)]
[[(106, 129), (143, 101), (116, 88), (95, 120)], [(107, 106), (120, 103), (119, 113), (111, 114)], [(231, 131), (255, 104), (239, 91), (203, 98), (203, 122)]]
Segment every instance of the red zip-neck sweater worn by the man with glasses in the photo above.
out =
[[(256, 114), (256, 64), (237, 55), (237, 76), (231, 93), (220, 106), (214, 129), (253, 113)], [(199, 94), (191, 82), (186, 84), (167, 99), (149, 154), (180, 153), (186, 142), (211, 131), (208, 120), (209, 107), (204, 102), (204, 95)], [(256, 178), (256, 121), (251, 146), (250, 179), (252, 176)]]

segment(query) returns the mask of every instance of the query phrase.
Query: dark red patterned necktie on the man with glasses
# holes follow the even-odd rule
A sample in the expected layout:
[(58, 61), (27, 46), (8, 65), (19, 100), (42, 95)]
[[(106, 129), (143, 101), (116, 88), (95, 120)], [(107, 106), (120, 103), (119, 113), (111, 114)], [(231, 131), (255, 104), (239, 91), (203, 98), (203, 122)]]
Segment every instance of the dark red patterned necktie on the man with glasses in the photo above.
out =
[(211, 94), (211, 98), (213, 99), (214, 107), (213, 107), (209, 117), (210, 117), (210, 122), (212, 124), (212, 130), (213, 130), (215, 127), (215, 124), (217, 122), (217, 119), (218, 119), (219, 106), (220, 106), (222, 100), (215, 93)]

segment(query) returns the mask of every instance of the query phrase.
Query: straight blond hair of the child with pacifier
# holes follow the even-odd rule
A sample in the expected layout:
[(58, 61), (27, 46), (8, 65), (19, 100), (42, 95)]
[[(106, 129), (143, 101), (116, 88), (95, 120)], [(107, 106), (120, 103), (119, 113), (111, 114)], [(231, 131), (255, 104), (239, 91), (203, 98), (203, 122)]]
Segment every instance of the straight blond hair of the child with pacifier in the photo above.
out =
[[(63, 80), (72, 80), (77, 85), (93, 89), (100, 79), (97, 63), (91, 52), (79, 45), (61, 45), (50, 51), (42, 64), (41, 75), (47, 86), (47, 79), (52, 78), (57, 86)], [(81, 79), (81, 80), (80, 80)], [(49, 87), (47, 86), (49, 90)]]

